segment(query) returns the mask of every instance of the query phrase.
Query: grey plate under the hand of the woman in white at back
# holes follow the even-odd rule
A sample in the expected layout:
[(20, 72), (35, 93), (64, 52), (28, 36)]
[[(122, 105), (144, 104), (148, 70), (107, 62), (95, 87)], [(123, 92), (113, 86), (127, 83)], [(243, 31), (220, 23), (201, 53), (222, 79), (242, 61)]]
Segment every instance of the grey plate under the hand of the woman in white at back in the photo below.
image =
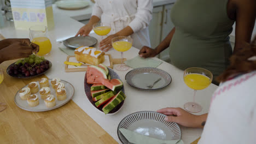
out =
[(93, 46), (97, 44), (97, 39), (90, 36), (72, 37), (63, 41), (63, 44), (72, 49), (77, 49), (80, 46)]

